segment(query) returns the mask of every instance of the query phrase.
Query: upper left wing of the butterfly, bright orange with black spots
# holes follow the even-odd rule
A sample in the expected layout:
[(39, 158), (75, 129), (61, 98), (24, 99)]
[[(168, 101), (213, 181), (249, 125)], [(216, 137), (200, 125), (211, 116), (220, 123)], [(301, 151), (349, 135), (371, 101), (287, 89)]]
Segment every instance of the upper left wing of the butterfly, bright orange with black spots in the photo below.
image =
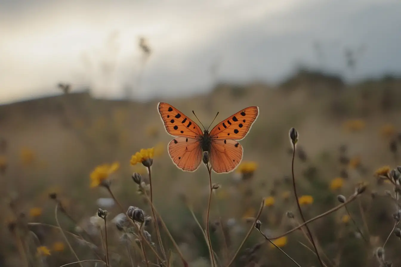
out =
[(157, 105), (160, 117), (163, 120), (166, 131), (172, 136), (200, 137), (203, 135), (201, 128), (193, 120), (185, 116), (180, 110), (167, 103)]

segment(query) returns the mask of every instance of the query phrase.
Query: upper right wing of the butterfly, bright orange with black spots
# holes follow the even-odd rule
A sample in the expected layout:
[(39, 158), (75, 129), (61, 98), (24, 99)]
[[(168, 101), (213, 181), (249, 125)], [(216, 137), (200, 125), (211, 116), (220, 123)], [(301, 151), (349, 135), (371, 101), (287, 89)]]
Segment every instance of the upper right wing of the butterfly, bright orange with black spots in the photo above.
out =
[(217, 124), (210, 131), (210, 136), (218, 139), (241, 140), (248, 134), (258, 115), (259, 108), (257, 106), (244, 108)]

